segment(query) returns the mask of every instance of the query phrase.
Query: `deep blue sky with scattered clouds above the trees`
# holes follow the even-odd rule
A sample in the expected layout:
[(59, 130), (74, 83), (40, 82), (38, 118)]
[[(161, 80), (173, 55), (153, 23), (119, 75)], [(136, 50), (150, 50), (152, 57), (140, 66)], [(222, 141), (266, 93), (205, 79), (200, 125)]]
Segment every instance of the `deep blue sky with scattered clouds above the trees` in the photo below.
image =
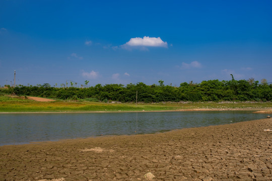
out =
[(0, 1), (0, 85), (272, 81), (272, 1)]

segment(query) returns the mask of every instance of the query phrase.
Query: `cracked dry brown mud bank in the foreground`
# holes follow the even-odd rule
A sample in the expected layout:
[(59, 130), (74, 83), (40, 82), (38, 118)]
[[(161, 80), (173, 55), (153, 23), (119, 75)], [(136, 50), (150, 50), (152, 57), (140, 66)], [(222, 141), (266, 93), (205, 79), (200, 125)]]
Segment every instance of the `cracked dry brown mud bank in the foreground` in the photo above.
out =
[(0, 180), (272, 180), (269, 130), (272, 119), (1, 146)]

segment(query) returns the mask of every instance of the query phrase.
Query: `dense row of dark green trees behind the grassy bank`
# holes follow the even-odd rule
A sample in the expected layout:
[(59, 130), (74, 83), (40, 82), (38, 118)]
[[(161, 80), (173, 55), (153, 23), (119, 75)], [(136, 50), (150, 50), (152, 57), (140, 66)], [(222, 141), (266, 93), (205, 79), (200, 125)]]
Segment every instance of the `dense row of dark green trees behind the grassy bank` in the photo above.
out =
[[(87, 80), (86, 80), (87, 81)], [(89, 82), (89, 81), (88, 81)], [(86, 85), (88, 84), (86, 83)], [(116, 102), (180, 102), (180, 101), (272, 101), (272, 84), (249, 80), (205, 80), (201, 83), (183, 82), (177, 86), (159, 84), (97, 84), (84, 87), (55, 87), (48, 83), (40, 86), (16, 86), (0, 89), (2, 94), (46, 97), (53, 99), (83, 99), (86, 101)], [(137, 97), (137, 98), (136, 98)]]

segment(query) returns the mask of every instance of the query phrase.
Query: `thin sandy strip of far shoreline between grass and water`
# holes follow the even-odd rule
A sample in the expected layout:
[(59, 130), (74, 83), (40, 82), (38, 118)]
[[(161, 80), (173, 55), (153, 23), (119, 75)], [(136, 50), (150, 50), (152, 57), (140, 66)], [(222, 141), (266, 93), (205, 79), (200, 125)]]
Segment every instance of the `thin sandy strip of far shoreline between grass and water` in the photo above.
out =
[(61, 111), (61, 112), (0, 112), (0, 114), (53, 114), (53, 113), (143, 113), (143, 112), (186, 112), (186, 111), (254, 111), (254, 113), (271, 114), (271, 108), (224, 108), (224, 109), (206, 109), (206, 108), (195, 108), (195, 109), (178, 109), (178, 110), (159, 110), (159, 111)]

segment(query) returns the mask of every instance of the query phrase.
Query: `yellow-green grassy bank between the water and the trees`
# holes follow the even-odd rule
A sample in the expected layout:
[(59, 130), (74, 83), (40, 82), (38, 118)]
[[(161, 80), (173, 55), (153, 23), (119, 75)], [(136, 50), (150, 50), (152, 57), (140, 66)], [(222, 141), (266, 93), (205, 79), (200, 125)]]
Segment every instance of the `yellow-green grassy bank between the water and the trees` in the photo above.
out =
[(171, 111), (190, 109), (262, 110), (271, 102), (179, 102), (179, 103), (97, 103), (86, 101), (36, 102), (0, 96), (0, 112), (91, 112), (91, 111)]

